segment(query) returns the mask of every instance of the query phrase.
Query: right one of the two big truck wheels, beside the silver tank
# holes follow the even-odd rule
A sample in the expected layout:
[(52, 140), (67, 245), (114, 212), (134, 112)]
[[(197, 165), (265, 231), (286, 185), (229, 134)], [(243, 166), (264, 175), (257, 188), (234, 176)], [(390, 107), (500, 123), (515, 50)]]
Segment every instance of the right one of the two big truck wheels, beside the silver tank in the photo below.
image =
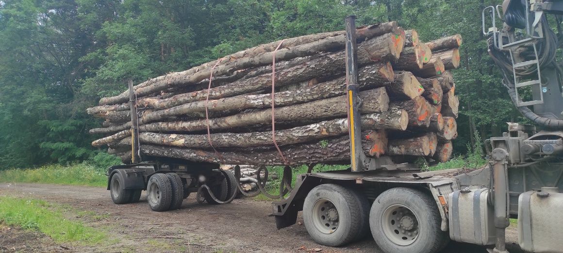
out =
[(424, 192), (397, 187), (381, 193), (369, 213), (377, 245), (387, 253), (430, 253), (449, 240), (440, 229), (436, 201)]

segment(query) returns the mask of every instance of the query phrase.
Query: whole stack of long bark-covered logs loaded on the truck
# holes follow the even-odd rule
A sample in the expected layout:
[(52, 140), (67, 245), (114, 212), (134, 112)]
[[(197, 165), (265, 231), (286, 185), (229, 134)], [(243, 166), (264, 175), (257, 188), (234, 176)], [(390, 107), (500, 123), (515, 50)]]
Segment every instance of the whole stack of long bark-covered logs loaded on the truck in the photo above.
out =
[[(447, 70), (459, 66), (461, 37), (423, 43), (396, 22), (360, 27), (356, 37), (364, 152), (448, 160), (459, 102)], [(349, 163), (344, 48), (344, 31), (305, 35), (136, 85), (142, 155), (220, 164)], [(87, 110), (105, 119), (90, 130), (101, 137), (92, 145), (109, 146), (126, 163), (128, 94), (101, 98)]]

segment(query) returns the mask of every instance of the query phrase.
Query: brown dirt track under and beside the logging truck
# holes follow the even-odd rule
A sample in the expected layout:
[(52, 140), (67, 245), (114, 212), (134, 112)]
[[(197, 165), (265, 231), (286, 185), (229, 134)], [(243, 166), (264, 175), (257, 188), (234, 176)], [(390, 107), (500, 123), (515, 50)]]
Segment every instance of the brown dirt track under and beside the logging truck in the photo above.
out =
[[(114, 205), (109, 192), (97, 187), (3, 183), (2, 195), (72, 206), (64, 212), (67, 218), (104, 229), (110, 238), (94, 247), (60, 245), (42, 233), (0, 223), (0, 252), (381, 252), (371, 237), (346, 247), (318, 245), (308, 236), (301, 216), (297, 224), (278, 230), (274, 218), (268, 216), (271, 207), (267, 201), (239, 199), (226, 205), (200, 205), (194, 194), (181, 209), (157, 213), (150, 210), (145, 193), (139, 203)], [(91, 215), (77, 216), (77, 211)], [(508, 250), (521, 252), (515, 228), (507, 232)], [(486, 249), (452, 242), (443, 252)]]

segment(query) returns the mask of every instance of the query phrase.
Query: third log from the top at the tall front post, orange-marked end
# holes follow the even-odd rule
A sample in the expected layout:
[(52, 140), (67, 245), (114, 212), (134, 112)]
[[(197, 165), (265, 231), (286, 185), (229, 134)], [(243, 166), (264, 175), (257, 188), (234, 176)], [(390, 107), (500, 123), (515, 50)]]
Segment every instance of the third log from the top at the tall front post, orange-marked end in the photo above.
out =
[[(394, 74), (391, 65), (388, 62), (382, 62), (370, 66), (363, 67), (358, 70), (358, 80), (360, 88), (368, 87), (381, 87), (391, 80), (394, 80)], [(410, 82), (410, 80), (408, 80)], [(346, 91), (345, 76), (335, 80), (320, 83), (310, 88), (303, 88), (298, 91), (286, 91), (275, 93), (274, 102), (276, 106), (295, 105), (298, 103), (305, 103), (322, 98), (330, 98), (341, 96)], [(195, 101), (185, 103), (166, 110), (151, 112), (142, 116), (139, 119), (139, 124), (144, 125), (150, 122), (162, 121), (162, 119), (171, 116), (189, 116), (195, 119), (205, 118), (205, 101)], [(208, 111), (211, 113), (212, 118), (226, 116), (232, 114), (231, 112), (241, 111), (251, 108), (265, 108), (271, 106), (271, 94), (258, 94), (258, 95), (239, 95), (229, 98), (221, 98), (219, 100), (212, 100), (207, 103)], [(111, 126), (109, 128), (96, 128), (90, 130), (90, 133), (115, 133), (118, 131), (131, 128), (131, 123), (123, 125)]]

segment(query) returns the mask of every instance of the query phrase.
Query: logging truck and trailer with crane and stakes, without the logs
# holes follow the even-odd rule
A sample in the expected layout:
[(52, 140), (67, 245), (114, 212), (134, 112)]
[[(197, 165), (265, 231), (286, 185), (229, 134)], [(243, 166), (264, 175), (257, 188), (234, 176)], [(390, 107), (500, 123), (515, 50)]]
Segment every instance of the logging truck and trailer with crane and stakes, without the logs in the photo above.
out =
[[(502, 15), (501, 15), (502, 10)], [(385, 252), (437, 252), (450, 240), (494, 245), (508, 252), (505, 231), (517, 219), (522, 250), (563, 252), (563, 69), (555, 61), (558, 38), (547, 15), (560, 27), (563, 1), (504, 1), (482, 11), (489, 52), (501, 69), (517, 109), (535, 125), (508, 123), (508, 132), (485, 142), (489, 162), (475, 170), (421, 171), (388, 157), (367, 157), (361, 149), (356, 82), (354, 16), (346, 18), (346, 74), (350, 168), (298, 175), (284, 170), (278, 201), (272, 204), (279, 229), (296, 223), (302, 211), (311, 238), (341, 246), (372, 234)], [(503, 20), (497, 28), (496, 17)], [(492, 26), (486, 29), (485, 21)], [(561, 33), (561, 30), (559, 31)], [(129, 91), (133, 91), (129, 83)], [(531, 98), (524, 101), (525, 98)], [(225, 204), (240, 189), (235, 174), (218, 164), (141, 156), (131, 93), (132, 163), (108, 170), (115, 204), (139, 200), (142, 190), (154, 211), (180, 207), (190, 192), (198, 202)], [(529, 109), (528, 106), (532, 106)], [(312, 168), (312, 167), (311, 167)], [(258, 171), (266, 173), (265, 167)], [(257, 177), (263, 193), (265, 182)]]

